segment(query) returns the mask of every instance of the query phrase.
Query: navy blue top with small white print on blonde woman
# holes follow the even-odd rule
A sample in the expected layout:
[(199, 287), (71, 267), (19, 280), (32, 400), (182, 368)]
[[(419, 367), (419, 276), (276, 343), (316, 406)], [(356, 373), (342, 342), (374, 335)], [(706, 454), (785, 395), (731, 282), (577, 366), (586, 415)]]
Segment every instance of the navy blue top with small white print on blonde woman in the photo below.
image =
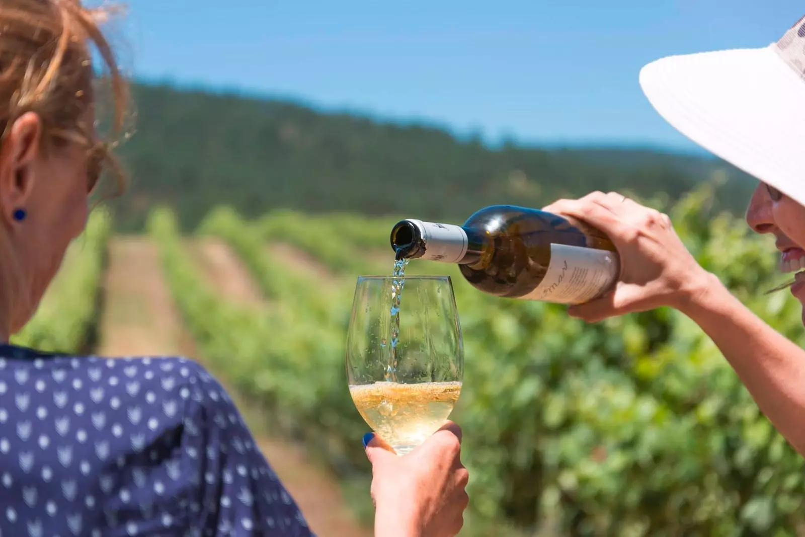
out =
[(0, 345), (0, 535), (313, 534), (196, 362)]

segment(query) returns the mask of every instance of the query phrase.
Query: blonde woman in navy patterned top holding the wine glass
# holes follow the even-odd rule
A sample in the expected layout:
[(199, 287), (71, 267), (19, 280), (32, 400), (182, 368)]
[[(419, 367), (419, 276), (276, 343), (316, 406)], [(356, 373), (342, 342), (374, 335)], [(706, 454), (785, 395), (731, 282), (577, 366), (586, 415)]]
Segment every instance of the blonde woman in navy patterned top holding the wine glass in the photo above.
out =
[[(0, 535), (312, 535), (196, 362), (8, 344), (114, 163), (93, 126), (91, 46), (109, 71), (118, 132), (127, 92), (103, 16), (79, 0), (0, 2)], [(467, 506), (460, 429), (448, 423), (402, 457), (365, 444), (375, 535), (456, 535)]]

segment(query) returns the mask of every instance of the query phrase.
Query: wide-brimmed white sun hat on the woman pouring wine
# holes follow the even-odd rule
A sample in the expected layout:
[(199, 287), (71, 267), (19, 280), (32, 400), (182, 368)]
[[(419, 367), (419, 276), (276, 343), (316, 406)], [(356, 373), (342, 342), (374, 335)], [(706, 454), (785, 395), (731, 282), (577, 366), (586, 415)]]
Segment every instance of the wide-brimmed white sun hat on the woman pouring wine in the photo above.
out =
[(805, 205), (805, 17), (768, 47), (656, 60), (640, 85), (682, 134)]

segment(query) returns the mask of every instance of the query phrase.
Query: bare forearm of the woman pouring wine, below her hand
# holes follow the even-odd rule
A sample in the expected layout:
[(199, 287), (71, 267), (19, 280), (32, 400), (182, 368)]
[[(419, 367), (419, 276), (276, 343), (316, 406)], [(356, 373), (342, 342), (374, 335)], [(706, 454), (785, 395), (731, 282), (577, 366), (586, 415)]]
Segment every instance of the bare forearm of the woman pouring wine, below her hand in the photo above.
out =
[(754, 315), (715, 276), (677, 307), (707, 333), (774, 427), (805, 455), (805, 350)]

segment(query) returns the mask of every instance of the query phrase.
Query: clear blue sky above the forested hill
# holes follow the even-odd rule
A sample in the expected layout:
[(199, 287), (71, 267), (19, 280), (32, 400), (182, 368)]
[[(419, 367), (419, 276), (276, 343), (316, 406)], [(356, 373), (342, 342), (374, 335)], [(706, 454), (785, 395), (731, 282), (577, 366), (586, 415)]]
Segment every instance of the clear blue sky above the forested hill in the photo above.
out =
[(490, 143), (696, 147), (650, 107), (643, 64), (762, 47), (793, 0), (131, 0), (135, 76), (291, 97)]

